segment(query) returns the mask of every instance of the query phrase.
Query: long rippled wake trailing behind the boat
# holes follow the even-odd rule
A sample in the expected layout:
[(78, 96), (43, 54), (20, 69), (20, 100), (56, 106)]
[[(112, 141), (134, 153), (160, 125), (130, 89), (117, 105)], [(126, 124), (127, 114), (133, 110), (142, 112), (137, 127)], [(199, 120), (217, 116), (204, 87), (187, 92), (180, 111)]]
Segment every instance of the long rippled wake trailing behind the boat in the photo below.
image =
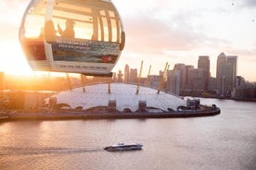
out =
[(1, 147), (0, 156), (12, 155), (32, 155), (32, 154), (70, 154), (84, 152), (104, 152), (102, 148), (18, 148), (18, 147)]

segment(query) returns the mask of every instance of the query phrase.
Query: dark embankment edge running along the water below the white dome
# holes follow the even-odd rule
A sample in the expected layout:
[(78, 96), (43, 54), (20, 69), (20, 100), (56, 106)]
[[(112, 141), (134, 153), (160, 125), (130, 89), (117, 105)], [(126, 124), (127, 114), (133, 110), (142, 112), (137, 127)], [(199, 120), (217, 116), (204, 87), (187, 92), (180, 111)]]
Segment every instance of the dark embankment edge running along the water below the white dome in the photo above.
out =
[(57, 112), (57, 113), (10, 113), (0, 116), (0, 121), (12, 120), (61, 120), (61, 119), (123, 119), (123, 118), (186, 118), (198, 116), (212, 116), (221, 113), (218, 107), (209, 107), (207, 110), (184, 110), (157, 113), (83, 113), (83, 112)]

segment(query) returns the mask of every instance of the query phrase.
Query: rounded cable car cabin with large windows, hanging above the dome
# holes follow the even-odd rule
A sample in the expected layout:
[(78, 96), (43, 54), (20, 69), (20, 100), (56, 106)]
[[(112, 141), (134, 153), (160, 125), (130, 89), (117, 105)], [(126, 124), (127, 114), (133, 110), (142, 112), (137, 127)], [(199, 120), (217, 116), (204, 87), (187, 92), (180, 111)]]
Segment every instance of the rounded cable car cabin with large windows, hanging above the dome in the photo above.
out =
[(33, 70), (110, 76), (124, 47), (110, 0), (32, 0), (19, 42)]

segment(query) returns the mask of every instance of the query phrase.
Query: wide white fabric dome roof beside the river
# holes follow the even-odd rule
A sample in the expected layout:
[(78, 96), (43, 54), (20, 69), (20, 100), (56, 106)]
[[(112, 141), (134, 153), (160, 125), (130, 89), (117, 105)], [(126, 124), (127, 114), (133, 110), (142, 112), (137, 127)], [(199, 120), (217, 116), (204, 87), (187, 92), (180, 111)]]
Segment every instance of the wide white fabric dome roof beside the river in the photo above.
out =
[(61, 91), (57, 97), (57, 103), (68, 103), (71, 108), (80, 107), (89, 109), (97, 106), (108, 106), (109, 101), (116, 101), (116, 109), (122, 112), (124, 109), (130, 109), (132, 112), (138, 110), (138, 103), (145, 101), (147, 108), (157, 108), (168, 111), (168, 108), (176, 110), (179, 105), (186, 105), (186, 101), (171, 93), (166, 93), (140, 86), (139, 93), (136, 94), (136, 85), (111, 83), (110, 93), (108, 84), (96, 84), (72, 91)]

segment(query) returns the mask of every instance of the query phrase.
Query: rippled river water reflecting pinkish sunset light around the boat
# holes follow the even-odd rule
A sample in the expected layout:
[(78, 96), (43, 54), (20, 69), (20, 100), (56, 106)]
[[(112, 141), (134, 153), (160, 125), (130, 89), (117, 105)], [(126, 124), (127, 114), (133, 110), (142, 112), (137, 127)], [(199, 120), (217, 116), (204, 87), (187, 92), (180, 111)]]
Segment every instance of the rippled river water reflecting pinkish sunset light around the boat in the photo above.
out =
[[(0, 122), (0, 169), (256, 169), (256, 103), (195, 118)], [(142, 151), (106, 152), (117, 142)]]

